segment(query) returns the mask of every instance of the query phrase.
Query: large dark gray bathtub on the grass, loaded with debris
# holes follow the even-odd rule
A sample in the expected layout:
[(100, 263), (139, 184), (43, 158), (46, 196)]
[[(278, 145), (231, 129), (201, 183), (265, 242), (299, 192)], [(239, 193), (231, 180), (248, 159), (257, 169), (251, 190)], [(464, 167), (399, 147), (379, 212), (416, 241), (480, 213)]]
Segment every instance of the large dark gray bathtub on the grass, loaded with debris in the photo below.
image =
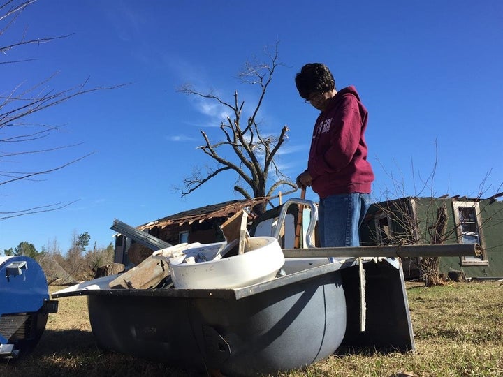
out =
[(87, 296), (102, 348), (173, 367), (250, 376), (302, 368), (341, 346), (414, 350), (401, 267), (388, 260), (364, 266), (365, 332), (354, 260), (246, 288), (66, 290), (53, 297)]

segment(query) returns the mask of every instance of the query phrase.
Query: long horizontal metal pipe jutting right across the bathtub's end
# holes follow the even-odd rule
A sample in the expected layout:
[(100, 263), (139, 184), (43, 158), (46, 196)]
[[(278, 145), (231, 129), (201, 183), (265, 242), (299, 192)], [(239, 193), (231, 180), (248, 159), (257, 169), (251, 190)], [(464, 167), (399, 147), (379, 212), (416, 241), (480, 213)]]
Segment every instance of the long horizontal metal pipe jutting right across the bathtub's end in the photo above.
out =
[(283, 249), (283, 254), (285, 258), (455, 257), (480, 256), (480, 250), (478, 244), (426, 244)]

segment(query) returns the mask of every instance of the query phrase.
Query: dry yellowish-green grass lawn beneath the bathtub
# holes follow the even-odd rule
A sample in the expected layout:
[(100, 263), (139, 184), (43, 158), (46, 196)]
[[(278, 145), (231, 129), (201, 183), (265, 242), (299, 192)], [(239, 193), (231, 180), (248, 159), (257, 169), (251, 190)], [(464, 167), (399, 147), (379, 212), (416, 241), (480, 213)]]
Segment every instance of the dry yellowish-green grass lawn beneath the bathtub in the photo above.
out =
[[(50, 287), (51, 291), (61, 287)], [(407, 283), (416, 353), (334, 355), (278, 376), (503, 376), (503, 283)], [(99, 350), (85, 297), (59, 299), (33, 353), (0, 362), (0, 376), (191, 376), (157, 362)]]

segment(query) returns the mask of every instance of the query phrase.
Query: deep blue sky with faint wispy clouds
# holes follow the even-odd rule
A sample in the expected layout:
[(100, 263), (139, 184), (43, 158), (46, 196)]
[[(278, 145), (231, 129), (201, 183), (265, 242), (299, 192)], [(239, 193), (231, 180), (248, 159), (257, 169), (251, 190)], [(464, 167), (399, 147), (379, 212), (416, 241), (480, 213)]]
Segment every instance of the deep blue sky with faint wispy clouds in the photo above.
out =
[[(106, 246), (115, 218), (138, 226), (240, 199), (231, 175), (184, 198), (174, 190), (193, 166), (212, 163), (196, 147), (201, 129), (220, 138), (215, 126), (222, 112), (177, 89), (190, 83), (226, 101), (238, 90), (245, 106), (253, 106), (254, 87), (235, 77), (276, 41), (284, 66), (259, 119), (267, 133), (289, 126), (279, 162), (292, 179), (305, 169), (317, 115), (298, 96), (293, 77), (317, 61), (333, 71), (337, 89), (355, 85), (370, 112), (366, 138), (376, 200), (503, 191), (501, 1), (38, 0), (0, 36), (0, 45), (23, 33), (72, 35), (3, 56), (34, 60), (3, 65), (2, 94), (54, 73), (53, 90), (86, 80), (88, 88), (128, 85), (79, 96), (30, 119), (64, 126), (44, 148), (80, 144), (43, 157), (3, 159), (0, 170), (45, 170), (95, 153), (37, 180), (0, 186), (0, 212), (77, 200), (0, 221), (0, 252), (22, 241), (38, 250), (56, 241), (64, 252), (82, 232), (92, 245)], [(307, 198), (316, 195), (309, 190)]]

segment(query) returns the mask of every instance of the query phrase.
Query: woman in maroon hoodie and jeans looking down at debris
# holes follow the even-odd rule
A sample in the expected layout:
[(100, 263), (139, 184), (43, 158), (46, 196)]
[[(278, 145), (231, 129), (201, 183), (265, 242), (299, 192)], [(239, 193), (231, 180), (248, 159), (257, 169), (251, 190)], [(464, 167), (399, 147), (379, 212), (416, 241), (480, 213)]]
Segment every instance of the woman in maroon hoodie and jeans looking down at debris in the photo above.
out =
[(355, 87), (335, 89), (324, 64), (303, 66), (296, 85), (300, 96), (321, 111), (307, 169), (297, 177), (297, 186), (312, 186), (319, 195), (321, 246), (360, 246), (358, 229), (370, 206), (374, 180), (364, 137), (367, 109)]

